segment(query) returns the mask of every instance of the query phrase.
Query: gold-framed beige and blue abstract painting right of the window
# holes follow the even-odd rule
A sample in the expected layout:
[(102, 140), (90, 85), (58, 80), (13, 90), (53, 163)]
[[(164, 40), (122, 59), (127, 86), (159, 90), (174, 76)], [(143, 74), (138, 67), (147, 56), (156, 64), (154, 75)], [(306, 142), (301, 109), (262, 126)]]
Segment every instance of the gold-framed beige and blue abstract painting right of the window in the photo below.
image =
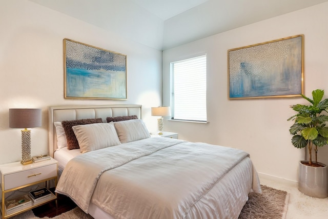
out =
[(228, 50), (229, 98), (303, 94), (303, 41), (296, 35)]

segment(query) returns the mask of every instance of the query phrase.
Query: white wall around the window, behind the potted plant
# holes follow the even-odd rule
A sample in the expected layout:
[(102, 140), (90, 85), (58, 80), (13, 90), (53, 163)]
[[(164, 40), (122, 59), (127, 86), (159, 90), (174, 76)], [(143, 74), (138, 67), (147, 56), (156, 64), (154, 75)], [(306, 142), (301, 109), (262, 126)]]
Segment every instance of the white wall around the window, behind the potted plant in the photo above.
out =
[[(298, 161), (304, 149), (294, 148), (287, 119), (290, 105), (302, 98), (228, 99), (227, 51), (242, 46), (304, 34), (305, 95), (324, 89), (328, 98), (328, 3), (281, 15), (163, 51), (163, 104), (170, 103), (170, 62), (207, 52), (208, 124), (165, 121), (165, 130), (179, 138), (239, 148), (251, 154), (260, 173), (298, 181)], [(328, 147), (319, 149), (328, 164)]]

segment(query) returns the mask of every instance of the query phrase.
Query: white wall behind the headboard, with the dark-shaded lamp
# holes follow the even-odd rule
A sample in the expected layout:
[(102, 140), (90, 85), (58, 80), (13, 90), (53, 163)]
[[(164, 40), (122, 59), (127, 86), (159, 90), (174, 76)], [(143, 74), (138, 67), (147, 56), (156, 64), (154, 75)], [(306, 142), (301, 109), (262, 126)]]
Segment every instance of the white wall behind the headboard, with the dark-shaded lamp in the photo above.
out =
[[(0, 2), (0, 31), (0, 164), (19, 161), (21, 154), (9, 108), (42, 108), (42, 127), (32, 129), (32, 155), (48, 153), (52, 105), (141, 104), (148, 128), (157, 129), (150, 107), (161, 105), (161, 51), (26, 0)], [(64, 38), (126, 54), (128, 100), (64, 99)]]

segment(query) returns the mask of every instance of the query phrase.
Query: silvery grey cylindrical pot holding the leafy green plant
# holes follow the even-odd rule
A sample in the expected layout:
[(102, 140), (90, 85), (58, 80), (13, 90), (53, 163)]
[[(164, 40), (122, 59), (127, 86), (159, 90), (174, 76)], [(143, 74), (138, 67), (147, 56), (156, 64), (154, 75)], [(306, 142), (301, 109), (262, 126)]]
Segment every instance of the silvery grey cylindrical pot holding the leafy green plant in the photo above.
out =
[(328, 166), (319, 163), (324, 167), (311, 167), (301, 162), (299, 162), (298, 190), (312, 197), (328, 197)]

